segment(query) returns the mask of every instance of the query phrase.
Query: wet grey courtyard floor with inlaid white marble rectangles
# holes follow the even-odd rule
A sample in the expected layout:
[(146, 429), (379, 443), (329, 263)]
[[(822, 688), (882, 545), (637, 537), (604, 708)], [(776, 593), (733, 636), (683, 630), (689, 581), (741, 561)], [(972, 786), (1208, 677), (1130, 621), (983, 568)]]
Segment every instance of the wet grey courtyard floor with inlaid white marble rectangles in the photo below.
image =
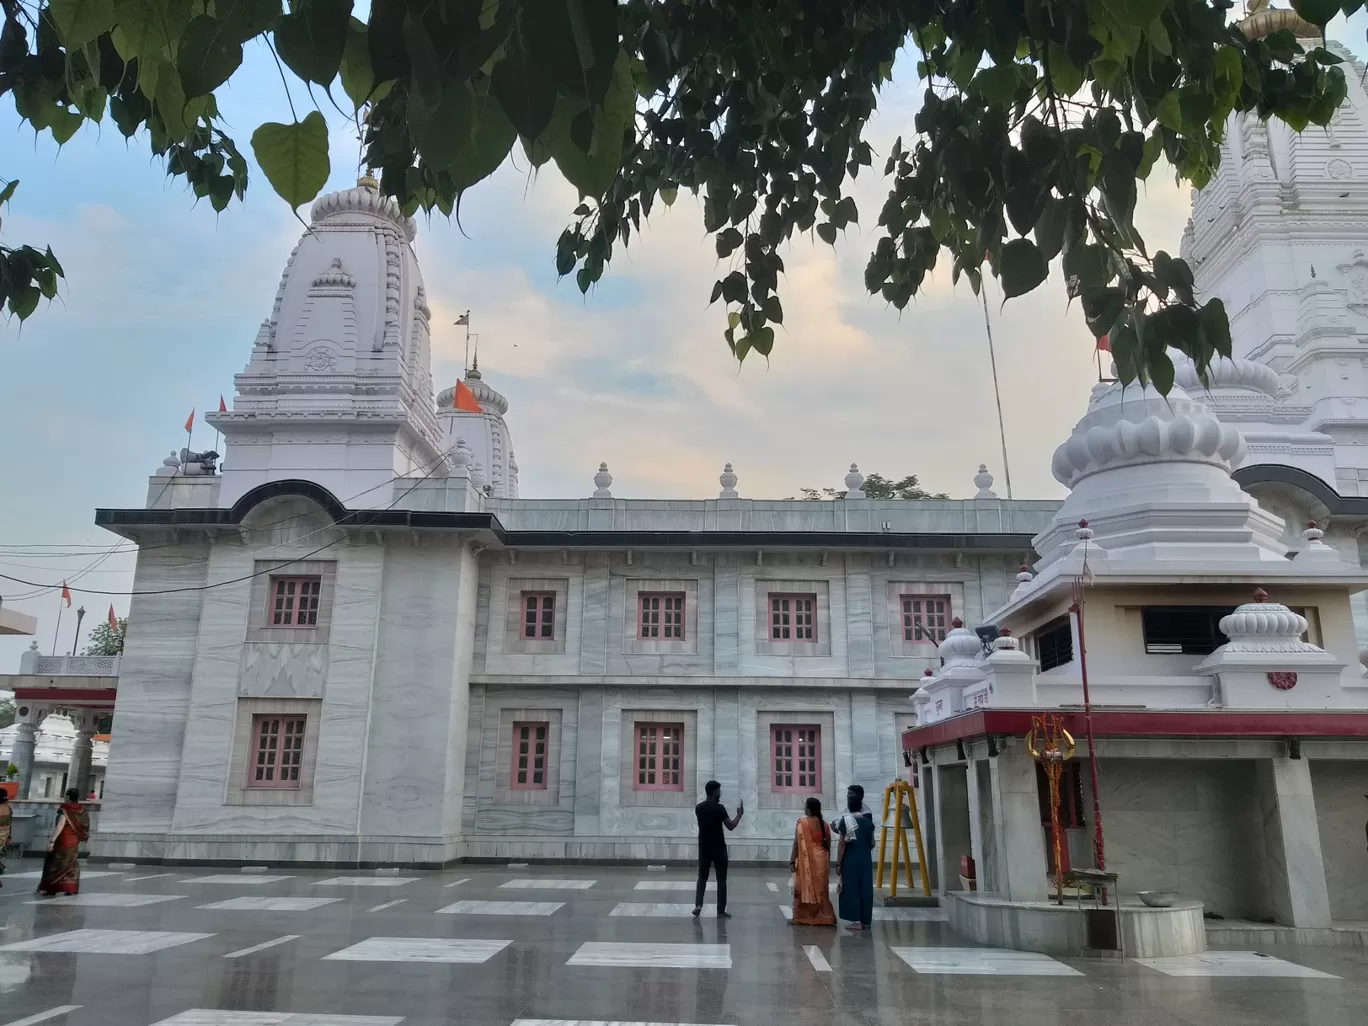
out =
[(710, 900), (694, 919), (683, 870), (101, 867), (34, 902), (34, 869), (0, 889), (0, 1026), (1368, 1022), (1363, 948), (1052, 959), (973, 947), (928, 910), (793, 928), (773, 870), (733, 869), (733, 918)]

